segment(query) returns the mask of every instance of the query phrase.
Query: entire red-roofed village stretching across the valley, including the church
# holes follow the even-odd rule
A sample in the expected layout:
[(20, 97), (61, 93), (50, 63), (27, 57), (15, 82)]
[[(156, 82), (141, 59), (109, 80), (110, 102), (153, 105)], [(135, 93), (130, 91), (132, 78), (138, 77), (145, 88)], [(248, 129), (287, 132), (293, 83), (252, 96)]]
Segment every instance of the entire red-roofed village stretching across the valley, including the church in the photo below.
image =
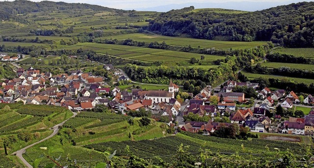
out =
[[(118, 76), (117, 82), (130, 80), (112, 65), (104, 65), (104, 69)], [(145, 109), (159, 116), (156, 120), (166, 116), (168, 125), (203, 135), (210, 135), (221, 126), (237, 124), (248, 127), (251, 132), (314, 136), (313, 96), (308, 95), (301, 102), (293, 91), (271, 91), (267, 87), (259, 91), (258, 83), (229, 80), (214, 89), (207, 86), (195, 96), (187, 93), (191, 98), (178, 99), (180, 87), (172, 81), (168, 90), (131, 89), (128, 92), (119, 86), (110, 88), (104, 77), (80, 70), (52, 75), (29, 67), (19, 68), (16, 73), (18, 78), (0, 82), (0, 103), (53, 105), (78, 112), (103, 105), (123, 115)], [(245, 98), (245, 93), (232, 92), (235, 87), (253, 88), (257, 97)], [(292, 111), (294, 105), (301, 103), (310, 107), (307, 115), (280, 114), (280, 111)], [(191, 115), (208, 116), (209, 120), (193, 120)]]

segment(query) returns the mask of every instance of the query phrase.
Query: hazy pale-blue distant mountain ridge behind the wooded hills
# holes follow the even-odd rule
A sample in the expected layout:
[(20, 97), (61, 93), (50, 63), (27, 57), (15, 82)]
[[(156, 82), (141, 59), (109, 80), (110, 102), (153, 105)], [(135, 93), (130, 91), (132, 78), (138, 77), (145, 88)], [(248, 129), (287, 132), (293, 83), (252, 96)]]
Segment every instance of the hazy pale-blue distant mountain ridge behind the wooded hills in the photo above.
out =
[[(310, 1), (310, 0), (304, 0)], [(276, 2), (276, 1), (230, 1), (230, 2), (206, 2), (206, 3), (181, 3), (181, 4), (169, 4), (169, 5), (162, 5), (162, 6), (155, 6), (155, 7), (148, 7), (148, 8), (136, 8), (134, 10), (137, 11), (157, 11), (157, 12), (167, 12), (172, 9), (182, 9), (187, 6), (194, 6), (196, 9), (200, 8), (223, 8), (223, 9), (234, 9), (234, 10), (243, 10), (243, 11), (257, 11), (268, 9), (271, 7), (276, 7), (279, 5), (288, 5), (290, 3), (294, 3), (295, 0), (288, 0), (284, 2)]]

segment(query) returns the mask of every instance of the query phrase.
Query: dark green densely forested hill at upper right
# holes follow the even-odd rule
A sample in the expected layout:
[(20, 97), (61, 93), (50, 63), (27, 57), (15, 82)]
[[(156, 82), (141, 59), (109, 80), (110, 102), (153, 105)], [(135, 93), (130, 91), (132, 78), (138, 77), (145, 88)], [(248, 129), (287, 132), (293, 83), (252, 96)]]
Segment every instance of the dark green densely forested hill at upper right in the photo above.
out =
[(162, 13), (149, 30), (167, 36), (225, 36), (232, 41), (272, 41), (287, 47), (314, 46), (314, 2), (300, 2), (256, 12), (233, 14), (194, 10), (193, 6)]

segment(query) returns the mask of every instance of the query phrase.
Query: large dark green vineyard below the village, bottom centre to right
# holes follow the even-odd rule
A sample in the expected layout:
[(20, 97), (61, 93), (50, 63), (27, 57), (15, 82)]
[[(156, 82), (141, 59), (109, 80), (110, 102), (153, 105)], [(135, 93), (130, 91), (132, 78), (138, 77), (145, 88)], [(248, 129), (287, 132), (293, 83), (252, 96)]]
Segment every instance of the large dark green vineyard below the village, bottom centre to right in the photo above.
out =
[[(183, 135), (185, 134), (185, 135)], [(144, 159), (152, 159), (156, 161), (155, 156), (162, 158), (166, 162), (172, 162), (176, 151), (180, 144), (189, 146), (189, 152), (199, 153), (201, 149), (207, 148), (213, 152), (223, 152), (223, 153), (243, 153), (241, 145), (244, 144), (246, 153), (260, 153), (265, 150), (267, 145), (271, 151), (274, 148), (279, 148), (285, 151), (287, 148), (295, 150), (295, 153), (299, 153), (301, 148), (300, 144), (286, 143), (286, 142), (276, 142), (268, 140), (254, 139), (252, 141), (241, 141), (232, 139), (223, 139), (216, 137), (203, 136), (198, 134), (183, 133), (176, 136), (169, 136), (165, 138), (159, 138), (155, 140), (142, 140), (142, 141), (125, 141), (125, 142), (105, 142), (99, 144), (89, 144), (85, 145), (86, 148), (93, 148), (95, 150), (104, 152), (112, 152), (112, 150), (117, 150), (118, 156), (126, 155), (125, 148), (127, 145), (130, 146), (133, 154)]]

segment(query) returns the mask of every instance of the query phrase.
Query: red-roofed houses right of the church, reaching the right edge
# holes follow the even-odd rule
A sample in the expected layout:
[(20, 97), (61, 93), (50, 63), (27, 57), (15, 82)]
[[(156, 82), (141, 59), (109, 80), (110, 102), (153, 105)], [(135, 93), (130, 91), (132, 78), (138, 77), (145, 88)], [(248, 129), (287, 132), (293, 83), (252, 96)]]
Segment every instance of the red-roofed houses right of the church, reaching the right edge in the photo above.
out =
[[(209, 95), (206, 96), (204, 90), (202, 90), (200, 94), (190, 100), (189, 105), (183, 111), (183, 115), (193, 113), (199, 116), (211, 115), (211, 117), (216, 116), (217, 113), (220, 113), (221, 116), (228, 113), (231, 123), (214, 122), (213, 120), (209, 120), (208, 122), (186, 121), (185, 124), (180, 126), (181, 129), (189, 132), (198, 132), (201, 130), (204, 135), (209, 135), (222, 125), (228, 126), (236, 123), (239, 126), (249, 127), (251, 132), (266, 132), (268, 130), (269, 132), (279, 131), (289, 134), (314, 135), (314, 110), (304, 119), (294, 120), (295, 118), (290, 118), (289, 121), (284, 122), (284, 128), (278, 129), (271, 126), (272, 120), (267, 116), (269, 116), (268, 114), (272, 109), (275, 109), (272, 107), (275, 100), (283, 100), (281, 106), (284, 108), (292, 108), (293, 104), (300, 102), (299, 97), (293, 91), (286, 95), (285, 90), (272, 92), (266, 87), (258, 93), (258, 98), (262, 99), (260, 103), (255, 103), (255, 106), (252, 108), (236, 110), (235, 102), (245, 102), (245, 99), (244, 93), (231, 92), (235, 86), (256, 88), (258, 84), (228, 81), (227, 86), (218, 92), (218, 97), (223, 97), (223, 101), (219, 102), (217, 106), (206, 105), (209, 102), (210, 91), (206, 92)], [(205, 89), (205, 91), (207, 90)], [(308, 104), (313, 101), (314, 98), (311, 95), (304, 99), (304, 103)], [(280, 115), (274, 115), (274, 117), (275, 119), (281, 119)]]

